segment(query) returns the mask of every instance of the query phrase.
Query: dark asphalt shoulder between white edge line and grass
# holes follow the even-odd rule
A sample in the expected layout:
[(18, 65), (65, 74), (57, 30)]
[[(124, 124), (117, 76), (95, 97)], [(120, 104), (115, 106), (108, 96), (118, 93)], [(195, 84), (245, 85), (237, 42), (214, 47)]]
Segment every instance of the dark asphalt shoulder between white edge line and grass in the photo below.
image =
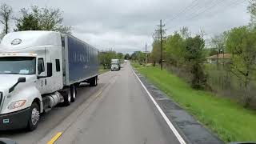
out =
[(148, 82), (137, 70), (134, 70), (134, 72), (187, 143), (224, 143), (216, 134), (207, 130), (193, 116), (188, 114), (186, 110), (183, 110), (181, 106), (178, 106), (177, 103), (168, 98), (161, 90)]

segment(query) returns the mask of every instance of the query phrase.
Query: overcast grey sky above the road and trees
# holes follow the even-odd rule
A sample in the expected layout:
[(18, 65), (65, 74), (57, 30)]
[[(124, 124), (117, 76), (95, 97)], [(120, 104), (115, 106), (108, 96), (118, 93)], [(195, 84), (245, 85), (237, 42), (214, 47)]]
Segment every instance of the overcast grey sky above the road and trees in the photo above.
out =
[(100, 50), (131, 53), (152, 44), (159, 20), (166, 34), (188, 26), (192, 34), (204, 30), (206, 38), (250, 21), (248, 0), (0, 0), (18, 11), (30, 6), (57, 7), (75, 37)]

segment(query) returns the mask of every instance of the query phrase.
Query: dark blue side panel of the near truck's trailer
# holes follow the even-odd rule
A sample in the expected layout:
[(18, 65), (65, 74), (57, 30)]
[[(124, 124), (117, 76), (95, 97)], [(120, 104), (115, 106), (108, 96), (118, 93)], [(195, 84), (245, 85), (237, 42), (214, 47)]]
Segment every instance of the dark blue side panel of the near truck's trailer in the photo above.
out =
[(68, 78), (66, 85), (85, 81), (98, 75), (98, 50), (93, 46), (67, 36)]

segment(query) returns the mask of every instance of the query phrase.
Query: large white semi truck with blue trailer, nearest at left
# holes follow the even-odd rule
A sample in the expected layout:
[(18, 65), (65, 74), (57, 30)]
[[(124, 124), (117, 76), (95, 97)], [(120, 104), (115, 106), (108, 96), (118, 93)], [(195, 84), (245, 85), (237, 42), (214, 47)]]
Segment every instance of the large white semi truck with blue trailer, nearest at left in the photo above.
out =
[(6, 34), (0, 44), (0, 130), (38, 126), (40, 114), (98, 84), (98, 50), (53, 31)]

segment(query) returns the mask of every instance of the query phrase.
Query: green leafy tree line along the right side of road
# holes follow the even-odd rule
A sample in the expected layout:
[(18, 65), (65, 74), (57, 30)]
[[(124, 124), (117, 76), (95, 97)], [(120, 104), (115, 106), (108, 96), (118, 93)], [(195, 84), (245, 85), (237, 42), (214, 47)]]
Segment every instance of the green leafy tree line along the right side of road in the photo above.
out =
[[(204, 33), (191, 34), (188, 27), (169, 34), (162, 40), (163, 64), (185, 70), (189, 75), (191, 86), (194, 89), (210, 89), (207, 85), (208, 75), (205, 70), (207, 54), (230, 54), (231, 58), (225, 64), (225, 70), (239, 79), (242, 83), (243, 104), (250, 105), (254, 94), (249, 94), (250, 83), (255, 80), (256, 70), (256, 0), (250, 0), (247, 7), (250, 14), (250, 23), (247, 26), (234, 27), (222, 34), (215, 35), (210, 40), (211, 49), (206, 47)], [(161, 63), (159, 32), (154, 32), (153, 49), (150, 53), (150, 62), (155, 66)], [(210, 53), (209, 53), (210, 51)], [(131, 58), (142, 63), (146, 57), (142, 52), (134, 52)], [(223, 57), (224, 58), (224, 57)], [(217, 58), (217, 64), (218, 62)]]

